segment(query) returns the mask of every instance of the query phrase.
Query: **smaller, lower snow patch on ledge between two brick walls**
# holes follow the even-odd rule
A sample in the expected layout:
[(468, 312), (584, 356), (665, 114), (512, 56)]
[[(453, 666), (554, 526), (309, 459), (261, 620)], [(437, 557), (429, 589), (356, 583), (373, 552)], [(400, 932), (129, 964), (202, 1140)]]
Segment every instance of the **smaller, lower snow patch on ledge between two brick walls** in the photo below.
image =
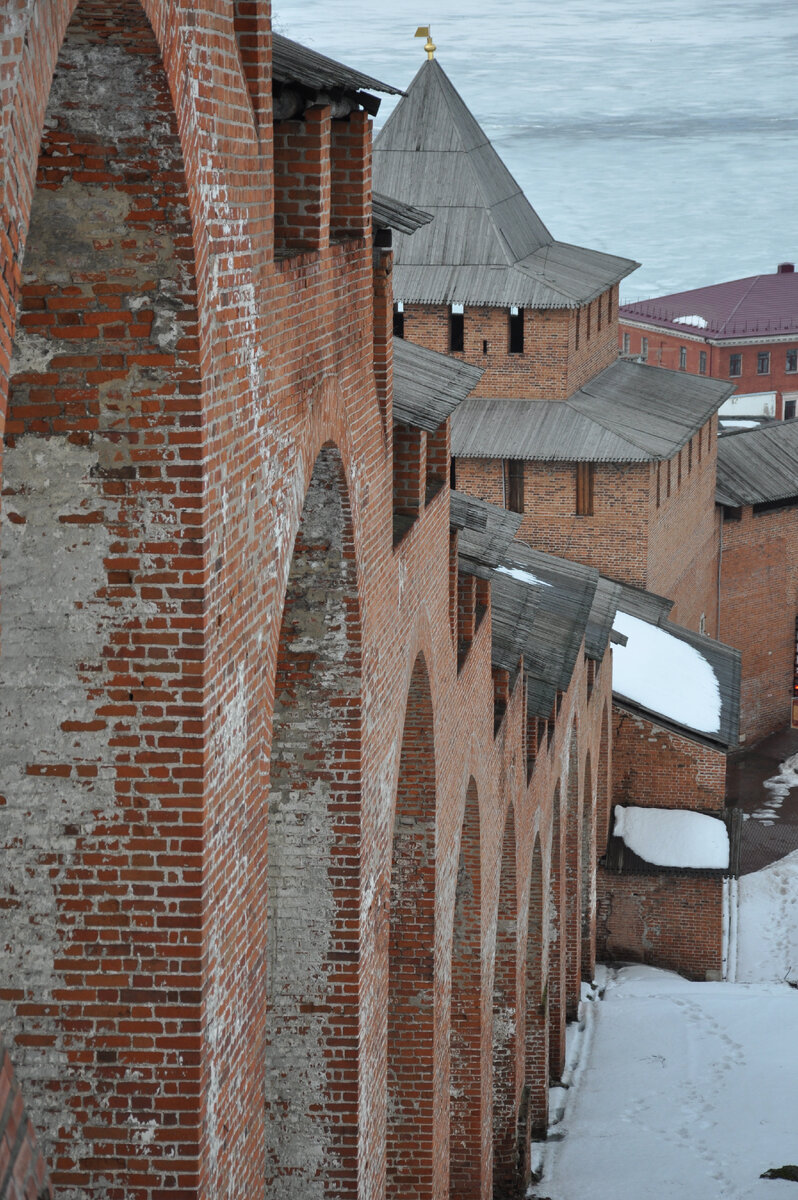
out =
[(616, 809), (616, 838), (654, 866), (725, 870), (728, 830), (719, 817), (679, 809)]

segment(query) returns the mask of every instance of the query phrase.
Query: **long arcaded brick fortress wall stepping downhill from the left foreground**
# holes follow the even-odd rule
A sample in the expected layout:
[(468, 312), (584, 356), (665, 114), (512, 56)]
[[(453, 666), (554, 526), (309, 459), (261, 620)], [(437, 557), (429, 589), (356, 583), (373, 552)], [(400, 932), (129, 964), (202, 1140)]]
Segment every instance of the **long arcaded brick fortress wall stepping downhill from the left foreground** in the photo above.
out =
[[(494, 730), (445, 430), (413, 448), (394, 547), (368, 122), (312, 109), (275, 172), (268, 18), (4, 11), (1, 1016), (65, 1200), (376, 1200), (400, 1176), (487, 1200), (493, 1147), (545, 1121), (580, 953), (553, 798), (568, 847), (568, 798), (608, 790), (610, 672), (588, 696), (580, 659), (534, 764), (522, 678)], [(415, 1043), (391, 998), (418, 1001)]]

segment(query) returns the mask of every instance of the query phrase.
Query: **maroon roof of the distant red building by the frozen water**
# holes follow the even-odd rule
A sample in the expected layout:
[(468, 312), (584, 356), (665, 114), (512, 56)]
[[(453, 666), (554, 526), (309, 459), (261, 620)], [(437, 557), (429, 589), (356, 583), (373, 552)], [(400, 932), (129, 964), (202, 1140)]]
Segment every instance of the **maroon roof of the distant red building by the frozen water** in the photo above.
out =
[(780, 263), (773, 275), (622, 305), (618, 317), (710, 340), (798, 334), (798, 274)]

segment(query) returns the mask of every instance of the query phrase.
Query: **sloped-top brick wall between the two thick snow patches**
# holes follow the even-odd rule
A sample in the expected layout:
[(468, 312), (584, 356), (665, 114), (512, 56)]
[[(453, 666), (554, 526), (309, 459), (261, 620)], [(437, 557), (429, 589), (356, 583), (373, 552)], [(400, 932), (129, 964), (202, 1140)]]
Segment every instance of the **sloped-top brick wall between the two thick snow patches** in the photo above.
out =
[[(721, 811), (726, 755), (613, 706), (612, 803)], [(604, 852), (605, 847), (599, 847)]]

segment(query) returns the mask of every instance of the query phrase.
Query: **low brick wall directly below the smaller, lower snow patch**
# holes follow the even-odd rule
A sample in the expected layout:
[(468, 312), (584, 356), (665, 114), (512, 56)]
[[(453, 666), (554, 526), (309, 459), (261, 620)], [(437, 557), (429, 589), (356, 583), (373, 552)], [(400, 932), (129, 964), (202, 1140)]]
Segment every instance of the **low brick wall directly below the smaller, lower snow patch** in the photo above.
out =
[(720, 979), (724, 880), (617, 875), (600, 866), (596, 953), (689, 979)]

